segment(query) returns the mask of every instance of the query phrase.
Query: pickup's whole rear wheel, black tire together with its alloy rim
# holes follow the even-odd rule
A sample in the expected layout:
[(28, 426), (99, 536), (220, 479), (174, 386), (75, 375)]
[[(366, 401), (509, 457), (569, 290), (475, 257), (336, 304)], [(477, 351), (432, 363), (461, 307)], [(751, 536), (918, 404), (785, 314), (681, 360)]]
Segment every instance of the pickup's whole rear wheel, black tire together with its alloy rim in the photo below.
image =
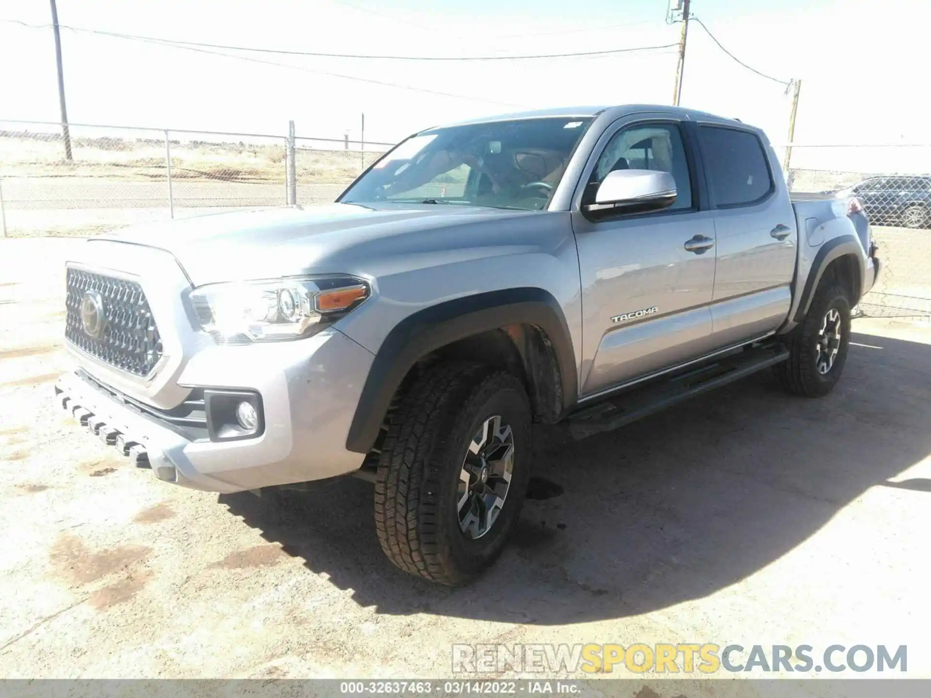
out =
[(779, 383), (793, 395), (828, 395), (841, 377), (850, 345), (850, 301), (843, 288), (817, 289), (788, 345), (789, 360), (775, 367)]

